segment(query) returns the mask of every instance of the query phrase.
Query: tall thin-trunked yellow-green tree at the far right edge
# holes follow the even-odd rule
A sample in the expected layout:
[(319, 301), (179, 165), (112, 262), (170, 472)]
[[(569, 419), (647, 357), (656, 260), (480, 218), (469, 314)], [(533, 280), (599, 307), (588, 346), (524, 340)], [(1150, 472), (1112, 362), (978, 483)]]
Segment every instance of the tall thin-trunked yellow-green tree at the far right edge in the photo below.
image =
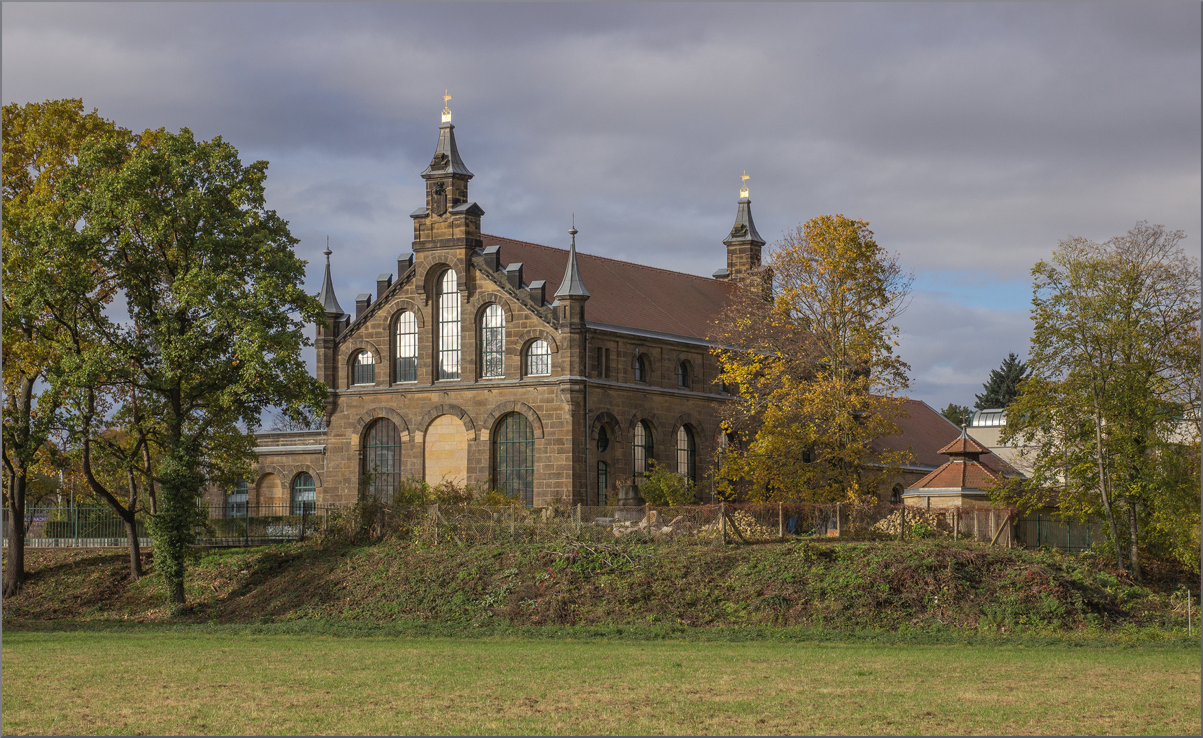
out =
[(1032, 450), (1013, 499), (1101, 514), (1137, 578), (1150, 546), (1198, 570), (1199, 267), (1183, 238), (1142, 221), (1033, 267), (1032, 376), (1002, 436)]

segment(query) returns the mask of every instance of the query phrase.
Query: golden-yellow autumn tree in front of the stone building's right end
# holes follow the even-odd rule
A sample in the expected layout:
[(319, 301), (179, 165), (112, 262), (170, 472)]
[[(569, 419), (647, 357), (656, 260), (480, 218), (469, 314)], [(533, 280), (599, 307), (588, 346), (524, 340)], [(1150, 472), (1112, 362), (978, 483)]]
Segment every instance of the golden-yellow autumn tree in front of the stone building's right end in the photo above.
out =
[(912, 278), (869, 224), (819, 215), (774, 245), (775, 293), (737, 296), (718, 323), (719, 381), (737, 387), (723, 421), (717, 492), (757, 500), (836, 502), (876, 495), (905, 453), (897, 392), (909, 367), (894, 352)]

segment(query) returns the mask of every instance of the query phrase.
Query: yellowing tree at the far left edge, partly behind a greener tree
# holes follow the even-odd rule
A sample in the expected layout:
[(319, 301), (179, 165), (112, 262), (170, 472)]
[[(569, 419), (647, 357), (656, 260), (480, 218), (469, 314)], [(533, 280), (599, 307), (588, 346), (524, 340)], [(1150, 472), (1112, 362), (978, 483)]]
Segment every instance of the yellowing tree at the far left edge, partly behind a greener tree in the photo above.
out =
[(57, 238), (78, 220), (59, 185), (85, 145), (128, 133), (96, 111), (85, 113), (82, 100), (4, 106), (5, 597), (25, 582), (28, 486), (63, 401), (59, 389), (46, 385), (59, 361), (61, 328), (47, 304), (57, 285), (84, 268)]

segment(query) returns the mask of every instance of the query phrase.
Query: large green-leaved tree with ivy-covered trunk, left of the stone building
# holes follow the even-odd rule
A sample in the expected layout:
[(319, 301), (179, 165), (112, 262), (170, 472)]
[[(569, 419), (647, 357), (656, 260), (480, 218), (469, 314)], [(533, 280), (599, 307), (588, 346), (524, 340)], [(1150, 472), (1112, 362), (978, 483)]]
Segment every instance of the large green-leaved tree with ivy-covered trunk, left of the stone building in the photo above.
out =
[(60, 188), (82, 224), (64, 238), (102, 284), (84, 291), (87, 340), (53, 380), (107, 393), (124, 430), (155, 450), (136, 471), (155, 487), (155, 567), (177, 606), (205, 484), (249, 472), (266, 409), (301, 419), (325, 397), (301, 358), (306, 322), (325, 316), (301, 287), (296, 239), (266, 207), (266, 173), (220, 137), (160, 129), (85, 147)]

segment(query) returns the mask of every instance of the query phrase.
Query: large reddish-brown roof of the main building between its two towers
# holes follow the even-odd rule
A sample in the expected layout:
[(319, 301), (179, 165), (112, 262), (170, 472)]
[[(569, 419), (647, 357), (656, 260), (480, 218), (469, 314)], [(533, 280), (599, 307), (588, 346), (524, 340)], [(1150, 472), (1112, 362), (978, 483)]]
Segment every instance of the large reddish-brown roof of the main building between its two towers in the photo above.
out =
[[(481, 240), (485, 246), (497, 244), (502, 248), (502, 264), (522, 262), (523, 281), (545, 280), (547, 294), (555, 294), (568, 264), (567, 249), (500, 236), (481, 236)], [(705, 339), (739, 288), (718, 279), (580, 251), (576, 263), (592, 294), (585, 304), (589, 323)]]

